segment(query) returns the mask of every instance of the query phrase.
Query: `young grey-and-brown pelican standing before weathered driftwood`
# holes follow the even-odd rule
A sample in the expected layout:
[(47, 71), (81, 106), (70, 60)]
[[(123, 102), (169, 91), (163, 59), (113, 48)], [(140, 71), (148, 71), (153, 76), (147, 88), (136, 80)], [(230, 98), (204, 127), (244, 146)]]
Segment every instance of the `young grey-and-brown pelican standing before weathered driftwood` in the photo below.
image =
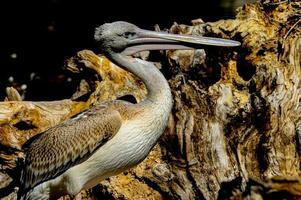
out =
[(31, 139), (25, 144), (19, 199), (76, 196), (148, 155), (167, 124), (172, 95), (152, 63), (131, 55), (145, 50), (240, 45), (226, 39), (143, 30), (122, 21), (96, 28), (94, 38), (108, 59), (143, 81), (147, 97), (137, 104), (114, 100), (95, 105)]

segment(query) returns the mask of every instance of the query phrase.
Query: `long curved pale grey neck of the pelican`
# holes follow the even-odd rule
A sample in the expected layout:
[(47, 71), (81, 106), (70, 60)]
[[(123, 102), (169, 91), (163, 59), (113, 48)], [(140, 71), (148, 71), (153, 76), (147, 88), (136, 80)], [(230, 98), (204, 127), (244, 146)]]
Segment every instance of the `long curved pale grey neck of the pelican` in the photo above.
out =
[(168, 82), (152, 63), (116, 53), (110, 53), (109, 57), (118, 66), (126, 68), (144, 82), (148, 95), (146, 100), (141, 102), (141, 104), (165, 103), (167, 104), (166, 106), (171, 108), (172, 97)]

